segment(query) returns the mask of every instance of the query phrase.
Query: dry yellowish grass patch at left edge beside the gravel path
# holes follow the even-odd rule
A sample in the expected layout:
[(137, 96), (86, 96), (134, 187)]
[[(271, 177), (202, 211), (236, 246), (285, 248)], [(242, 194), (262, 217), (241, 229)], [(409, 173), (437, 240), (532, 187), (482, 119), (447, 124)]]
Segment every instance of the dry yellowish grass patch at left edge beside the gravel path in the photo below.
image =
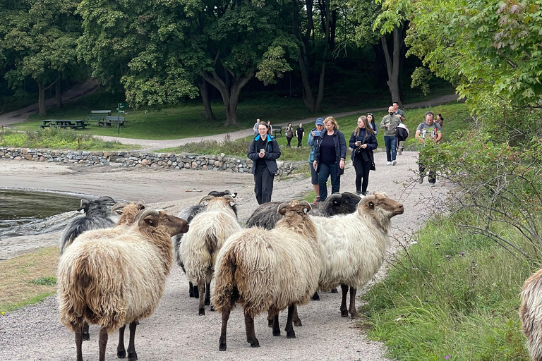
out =
[(0, 312), (31, 305), (56, 292), (58, 247), (0, 262)]

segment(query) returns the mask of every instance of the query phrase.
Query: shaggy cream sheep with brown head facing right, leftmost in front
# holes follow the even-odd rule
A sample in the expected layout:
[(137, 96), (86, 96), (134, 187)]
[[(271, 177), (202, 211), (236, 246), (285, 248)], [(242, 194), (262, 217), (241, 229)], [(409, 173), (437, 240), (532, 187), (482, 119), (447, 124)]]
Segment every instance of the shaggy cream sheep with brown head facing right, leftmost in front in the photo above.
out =
[[(80, 235), (59, 261), (60, 322), (76, 334), (77, 360), (83, 361), (83, 324), (100, 324), (100, 361), (105, 360), (108, 334), (124, 336), (130, 324), (128, 360), (137, 360), (135, 327), (150, 317), (162, 297), (171, 271), (171, 236), (188, 231), (183, 219), (164, 211), (144, 210), (121, 234), (109, 229)], [(102, 232), (104, 237), (96, 238)], [(87, 235), (91, 235), (89, 239)], [(117, 356), (124, 358), (124, 337)]]

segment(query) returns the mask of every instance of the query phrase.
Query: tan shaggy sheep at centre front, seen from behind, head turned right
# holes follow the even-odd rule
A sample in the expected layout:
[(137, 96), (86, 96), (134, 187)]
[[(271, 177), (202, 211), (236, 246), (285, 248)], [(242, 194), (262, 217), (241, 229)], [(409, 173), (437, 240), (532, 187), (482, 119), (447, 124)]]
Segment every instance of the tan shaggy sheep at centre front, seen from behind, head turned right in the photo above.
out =
[(308, 303), (318, 287), (320, 248), (315, 224), (307, 213), (311, 205), (291, 201), (279, 205), (284, 217), (271, 231), (247, 228), (231, 235), (217, 255), (212, 304), (222, 312), (219, 350), (227, 348), (227, 322), (240, 303), (245, 314), (246, 338), (259, 347), (254, 317), (270, 312), (273, 336), (280, 335), (279, 311), (288, 308), (287, 338), (295, 338), (292, 318), (296, 305)]

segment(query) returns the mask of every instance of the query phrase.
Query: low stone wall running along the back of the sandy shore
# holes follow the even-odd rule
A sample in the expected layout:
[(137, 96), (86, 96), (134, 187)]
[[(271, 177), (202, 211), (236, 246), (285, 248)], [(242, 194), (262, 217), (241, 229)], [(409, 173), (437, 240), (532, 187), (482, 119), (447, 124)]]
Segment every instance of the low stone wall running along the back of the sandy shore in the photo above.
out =
[[(252, 161), (248, 158), (226, 157), (224, 154), (173, 154), (147, 152), (88, 152), (82, 150), (30, 149), (0, 147), (1, 159), (18, 161), (57, 161), (66, 164), (114, 165), (164, 169), (191, 169), (201, 171), (233, 171), (251, 173)], [(279, 176), (307, 166), (307, 161), (277, 161)]]

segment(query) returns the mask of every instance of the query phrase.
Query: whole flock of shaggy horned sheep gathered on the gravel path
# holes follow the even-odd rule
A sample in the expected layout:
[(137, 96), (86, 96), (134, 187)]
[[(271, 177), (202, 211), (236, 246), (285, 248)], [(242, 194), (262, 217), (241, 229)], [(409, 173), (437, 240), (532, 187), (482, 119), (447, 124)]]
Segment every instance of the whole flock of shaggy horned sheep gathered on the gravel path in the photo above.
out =
[(114, 204), (109, 212), (110, 197), (81, 201), (85, 215), (61, 235), (58, 271), (60, 321), (76, 335), (78, 361), (88, 324), (101, 327), (101, 361), (116, 329), (117, 356), (137, 360), (136, 326), (155, 311), (174, 261), (186, 271), (190, 295), (199, 298), (199, 314), (207, 305), (222, 314), (219, 350), (227, 348), (227, 322), (236, 305), (243, 308), (252, 347), (259, 346), (256, 315), (267, 312), (272, 334), (279, 336), (278, 314), (288, 310), (284, 330), (294, 338), (293, 324), (301, 325), (296, 307), (318, 297), (319, 288), (341, 286), (342, 316), (357, 316), (356, 290), (383, 263), (390, 220), (404, 212), (402, 204), (380, 192), (363, 198), (335, 194), (316, 207), (271, 202), (258, 207), (243, 228), (235, 196), (211, 192), (178, 216), (146, 209), (143, 202)]

